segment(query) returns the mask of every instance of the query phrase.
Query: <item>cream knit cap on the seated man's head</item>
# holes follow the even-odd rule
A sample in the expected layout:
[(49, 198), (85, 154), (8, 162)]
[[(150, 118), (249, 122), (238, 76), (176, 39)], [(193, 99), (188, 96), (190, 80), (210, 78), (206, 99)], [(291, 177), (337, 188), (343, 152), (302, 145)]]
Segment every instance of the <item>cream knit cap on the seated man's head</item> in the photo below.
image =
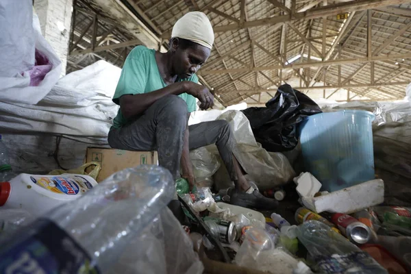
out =
[(188, 12), (179, 18), (173, 26), (171, 37), (183, 38), (196, 42), (201, 46), (212, 48), (214, 32), (206, 14), (203, 12)]

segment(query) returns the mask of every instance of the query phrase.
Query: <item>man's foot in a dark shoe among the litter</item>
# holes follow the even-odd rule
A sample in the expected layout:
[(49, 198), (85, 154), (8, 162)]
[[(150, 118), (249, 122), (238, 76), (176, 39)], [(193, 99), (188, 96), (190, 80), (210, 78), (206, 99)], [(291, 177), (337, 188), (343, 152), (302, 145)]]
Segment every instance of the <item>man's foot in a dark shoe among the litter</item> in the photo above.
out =
[(237, 189), (229, 189), (229, 203), (243, 208), (255, 208), (257, 210), (274, 210), (278, 206), (278, 201), (264, 197), (258, 190), (252, 193), (241, 192)]

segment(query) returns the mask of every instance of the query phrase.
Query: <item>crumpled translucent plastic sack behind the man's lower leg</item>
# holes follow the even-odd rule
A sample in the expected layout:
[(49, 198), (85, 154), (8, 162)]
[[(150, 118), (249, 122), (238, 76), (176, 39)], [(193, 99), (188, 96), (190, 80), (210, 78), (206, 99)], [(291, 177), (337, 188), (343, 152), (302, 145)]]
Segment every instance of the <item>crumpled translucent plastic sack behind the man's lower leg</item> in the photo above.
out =
[[(242, 112), (231, 110), (221, 114), (217, 119), (229, 122), (238, 145), (236, 158), (247, 172), (247, 179), (255, 182), (260, 190), (281, 186), (295, 177), (286, 156), (282, 153), (268, 153), (256, 142), (249, 121)], [(208, 146), (207, 149), (220, 158), (215, 145)], [(214, 175), (214, 182), (217, 189), (227, 188), (233, 184), (223, 163)]]

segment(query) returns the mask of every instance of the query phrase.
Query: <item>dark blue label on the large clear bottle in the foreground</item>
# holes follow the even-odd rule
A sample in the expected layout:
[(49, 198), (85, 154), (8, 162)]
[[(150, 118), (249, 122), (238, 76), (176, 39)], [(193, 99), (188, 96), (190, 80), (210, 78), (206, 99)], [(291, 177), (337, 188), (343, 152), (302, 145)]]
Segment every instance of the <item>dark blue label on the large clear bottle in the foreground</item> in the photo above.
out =
[(14, 234), (1, 248), (0, 273), (100, 273), (88, 253), (55, 223), (37, 219), (26, 232)]

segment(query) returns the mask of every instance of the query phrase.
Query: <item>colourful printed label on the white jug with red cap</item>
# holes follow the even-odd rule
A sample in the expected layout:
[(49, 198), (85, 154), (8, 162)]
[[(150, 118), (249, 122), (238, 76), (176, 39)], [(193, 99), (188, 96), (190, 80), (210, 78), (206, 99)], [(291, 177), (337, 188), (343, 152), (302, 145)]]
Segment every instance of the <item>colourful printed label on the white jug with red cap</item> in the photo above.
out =
[(86, 178), (77, 175), (73, 177), (30, 176), (30, 179), (34, 184), (60, 194), (77, 195), (79, 192), (82, 194), (92, 188), (92, 184)]

